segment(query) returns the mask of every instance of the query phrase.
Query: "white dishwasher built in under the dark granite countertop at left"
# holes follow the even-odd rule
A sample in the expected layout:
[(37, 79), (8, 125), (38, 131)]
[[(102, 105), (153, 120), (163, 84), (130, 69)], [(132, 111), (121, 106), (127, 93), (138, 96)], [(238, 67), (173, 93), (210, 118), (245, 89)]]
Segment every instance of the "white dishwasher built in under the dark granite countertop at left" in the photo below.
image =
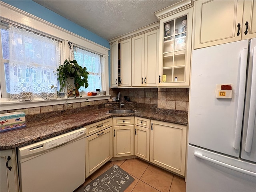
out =
[(18, 148), (22, 192), (72, 192), (85, 180), (86, 128)]

